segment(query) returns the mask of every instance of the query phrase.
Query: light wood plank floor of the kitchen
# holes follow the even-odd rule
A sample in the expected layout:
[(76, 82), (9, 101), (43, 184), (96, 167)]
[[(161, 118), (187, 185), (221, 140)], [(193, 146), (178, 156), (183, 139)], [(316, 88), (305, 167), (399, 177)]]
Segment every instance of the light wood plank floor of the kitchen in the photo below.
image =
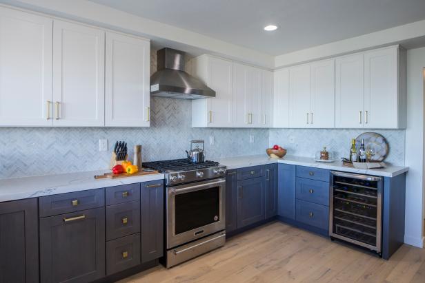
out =
[(225, 247), (124, 282), (425, 282), (425, 249), (402, 246), (391, 260), (272, 222), (230, 238)]

